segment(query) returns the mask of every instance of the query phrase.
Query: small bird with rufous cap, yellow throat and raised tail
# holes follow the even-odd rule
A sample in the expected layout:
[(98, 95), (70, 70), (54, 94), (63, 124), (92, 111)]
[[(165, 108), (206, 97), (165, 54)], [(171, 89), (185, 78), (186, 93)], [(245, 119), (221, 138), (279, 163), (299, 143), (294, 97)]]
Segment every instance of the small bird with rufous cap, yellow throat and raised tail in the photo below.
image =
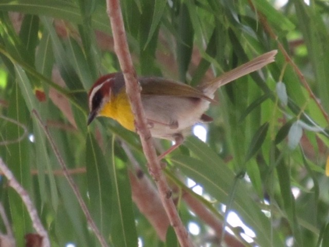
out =
[[(161, 77), (139, 77), (141, 102), (152, 137), (172, 140), (179, 146), (196, 123), (212, 120), (205, 112), (211, 102), (216, 102), (214, 95), (219, 87), (274, 62), (277, 52), (266, 52), (196, 87)], [(121, 72), (101, 76), (88, 92), (88, 105), (87, 125), (104, 116), (115, 119), (127, 130), (136, 131)]]

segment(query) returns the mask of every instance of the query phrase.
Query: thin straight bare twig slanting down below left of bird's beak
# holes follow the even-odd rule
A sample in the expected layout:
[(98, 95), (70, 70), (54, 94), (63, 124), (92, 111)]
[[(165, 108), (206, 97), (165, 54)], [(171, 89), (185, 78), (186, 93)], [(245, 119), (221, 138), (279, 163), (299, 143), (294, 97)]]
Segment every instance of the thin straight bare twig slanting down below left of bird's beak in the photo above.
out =
[(47, 126), (44, 125), (44, 123), (42, 122), (41, 118), (40, 118), (40, 115), (38, 114), (38, 112), (36, 112), (36, 110), (32, 110), (32, 113), (34, 114), (34, 116), (36, 117), (36, 119), (38, 119), (39, 121), (39, 124), (41, 126), (41, 128), (43, 129), (43, 131), (45, 132), (45, 135), (47, 136), (47, 139), (50, 143), (50, 146), (54, 152), (54, 154), (56, 155), (57, 157), (57, 160), (61, 166), (61, 168), (63, 169), (63, 173), (64, 173), (64, 176), (65, 178), (67, 179), (67, 182), (69, 183), (69, 185), (71, 186), (73, 192), (75, 193), (76, 195), (76, 198), (78, 199), (78, 202), (79, 202), (79, 205), (86, 217), (86, 220), (88, 222), (88, 225), (90, 226), (90, 228), (92, 228), (93, 232), (95, 233), (96, 237), (98, 238), (98, 241), (101, 243), (101, 245), (103, 247), (105, 246), (108, 246), (105, 239), (103, 238), (103, 236), (101, 235), (101, 233), (99, 232), (98, 230), (98, 227), (96, 226), (92, 216), (90, 215), (89, 213), (89, 210), (88, 210), (88, 207), (87, 205), (85, 204), (85, 202), (83, 201), (82, 199), (82, 196), (81, 196), (81, 193), (79, 191), (79, 188), (78, 186), (76, 185), (76, 183), (74, 182), (74, 180), (72, 179), (72, 177), (70, 176), (69, 174), (69, 171), (66, 167), (66, 164), (63, 160), (63, 157), (62, 155), (60, 154), (56, 144), (54, 143), (49, 131), (48, 131), (48, 128)]

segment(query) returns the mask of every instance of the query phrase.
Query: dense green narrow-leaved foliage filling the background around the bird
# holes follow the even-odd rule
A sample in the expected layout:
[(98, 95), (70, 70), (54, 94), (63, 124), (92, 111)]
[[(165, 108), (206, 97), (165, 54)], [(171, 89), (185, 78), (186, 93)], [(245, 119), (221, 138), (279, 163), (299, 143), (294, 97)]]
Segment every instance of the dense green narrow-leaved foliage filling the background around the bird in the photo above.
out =
[[(196, 246), (218, 246), (223, 226), (240, 241), (225, 238), (224, 246), (329, 246), (329, 4), (278, 2), (121, 1), (139, 75), (197, 85), (279, 50), (275, 63), (218, 90), (206, 144), (189, 137), (166, 160), (181, 219), (199, 230)], [(100, 245), (60, 157), (110, 246), (137, 246), (138, 239), (140, 246), (177, 246), (172, 229), (158, 237), (147, 220), (142, 207), (155, 199), (134, 191), (138, 180), (152, 181), (138, 135), (110, 119), (86, 126), (86, 92), (118, 70), (105, 1), (0, 2), (0, 157), (32, 198), (52, 246)], [(35, 230), (6, 181), (0, 202), (16, 245), (24, 246)], [(249, 238), (227, 220), (232, 211), (252, 230)]]

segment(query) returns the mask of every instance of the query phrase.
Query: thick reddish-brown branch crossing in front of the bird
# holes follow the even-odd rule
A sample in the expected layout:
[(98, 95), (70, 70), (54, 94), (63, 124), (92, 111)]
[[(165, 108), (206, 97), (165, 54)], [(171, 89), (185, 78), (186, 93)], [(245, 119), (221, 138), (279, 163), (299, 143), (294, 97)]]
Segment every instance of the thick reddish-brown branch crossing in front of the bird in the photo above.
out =
[(140, 86), (137, 81), (136, 72), (132, 63), (128, 44), (126, 41), (122, 13), (119, 0), (106, 0), (107, 14), (111, 22), (114, 38), (114, 48), (119, 59), (120, 67), (124, 75), (126, 93), (129, 97), (132, 111), (135, 117), (135, 124), (141, 139), (145, 157), (147, 158), (152, 177), (156, 182), (162, 205), (166, 210), (170, 223), (177, 235), (182, 247), (193, 246), (192, 241), (178, 216), (175, 204), (171, 198), (171, 190), (166, 181), (155, 153), (152, 136), (147, 126), (145, 113), (140, 98)]

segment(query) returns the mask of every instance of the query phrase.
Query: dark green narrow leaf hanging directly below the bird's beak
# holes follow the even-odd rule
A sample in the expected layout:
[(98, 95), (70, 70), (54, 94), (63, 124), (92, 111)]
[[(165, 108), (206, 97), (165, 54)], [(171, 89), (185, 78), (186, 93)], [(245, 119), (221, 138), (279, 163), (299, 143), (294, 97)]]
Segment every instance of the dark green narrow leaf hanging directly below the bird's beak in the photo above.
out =
[(105, 157), (90, 132), (86, 142), (86, 168), (90, 210), (101, 234), (106, 238), (110, 232), (113, 205), (111, 176)]

